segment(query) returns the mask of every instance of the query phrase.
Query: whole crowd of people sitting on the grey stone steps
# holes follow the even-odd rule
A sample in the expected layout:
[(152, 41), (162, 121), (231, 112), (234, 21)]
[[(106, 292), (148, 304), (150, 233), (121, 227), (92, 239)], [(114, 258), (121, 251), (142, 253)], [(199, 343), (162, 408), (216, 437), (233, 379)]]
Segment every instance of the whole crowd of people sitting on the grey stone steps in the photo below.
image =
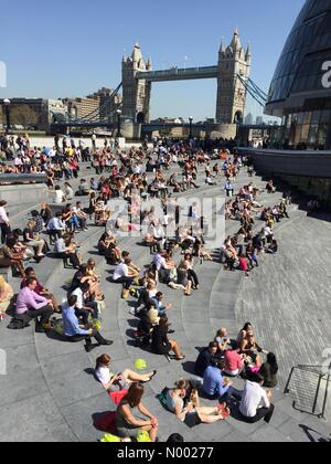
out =
[[(87, 151), (81, 144), (63, 145), (60, 150), (57, 140), (54, 150), (40, 150), (31, 149), (29, 138), (22, 140), (17, 157), (20, 160), (15, 158), (12, 169), (32, 172), (33, 167), (36, 171), (44, 171), (53, 201), (42, 204), (40, 211), (32, 211), (23, 231), (11, 230), (7, 203), (0, 202), (0, 266), (14, 267), (22, 280), (11, 328), (24, 327), (35, 319), (38, 333), (60, 328), (58, 334), (66, 341), (84, 340), (87, 352), (95, 347), (93, 338), (98, 346), (113, 345), (100, 334), (100, 315), (105, 310), (102, 275), (93, 259), (84, 260), (76, 240), (77, 233), (92, 225), (100, 226), (103, 233), (97, 247), (107, 265), (114, 267), (114, 285), (121, 286), (124, 299), (131, 296), (136, 300), (130, 314), (138, 321), (137, 346), (166, 356), (169, 361), (182, 361), (185, 347), (170, 337), (175, 333), (171, 324), (174, 308), (167, 304), (161, 285), (190, 297), (200, 288), (195, 263), (215, 259), (213, 253), (217, 252), (216, 261), (226, 270), (248, 276), (260, 264), (263, 254), (278, 252), (275, 225), (288, 218), (288, 202), (284, 200), (275, 202), (273, 208), (265, 208), (260, 200), (261, 189), (254, 182), (236, 191), (239, 172), (246, 167), (252, 177), (252, 167), (247, 159), (231, 156), (228, 150), (209, 152), (192, 141), (171, 144), (169, 140), (156, 143), (153, 148), (132, 147), (128, 151), (106, 144), (102, 150)], [(11, 143), (8, 141), (9, 146)], [(82, 161), (90, 162), (95, 177), (89, 181), (79, 179), (75, 191), (72, 183), (79, 177)], [(199, 184), (202, 170), (204, 186)], [(61, 179), (66, 181), (62, 188)], [(192, 202), (188, 210), (182, 211), (178, 198), (191, 189), (216, 186), (226, 193), (226, 220), (239, 224), (238, 232), (227, 236), (215, 251), (205, 247), (209, 224), (197, 203)], [(265, 190), (269, 194), (276, 192), (271, 180)], [(148, 202), (149, 198), (159, 200), (160, 211)], [(110, 199), (124, 200), (127, 214), (114, 217)], [(86, 200), (88, 204), (85, 204)], [(54, 204), (57, 207), (55, 213)], [(141, 233), (141, 244), (150, 247), (151, 259), (143, 263), (145, 268), (134, 262), (130, 250), (121, 246), (118, 236), (128, 232)], [(179, 260), (178, 251), (181, 253)], [(54, 292), (45, 288), (36, 277), (34, 267), (49, 253), (75, 270), (67, 286), (66, 304), (58, 305)], [(0, 280), (0, 309), (3, 313), (12, 298), (11, 286)], [(110, 372), (110, 363), (109, 355), (99, 357), (95, 376), (108, 392), (125, 392), (115, 418), (118, 436), (136, 440), (137, 433), (145, 431), (150, 441), (157, 441), (159, 421), (143, 407), (142, 398), (143, 383), (152, 381), (158, 372), (140, 375), (124, 369), (120, 375), (115, 375)], [(221, 328), (199, 355), (195, 363), (197, 383), (181, 379), (160, 394), (160, 401), (189, 426), (226, 420), (232, 412), (232, 398), (239, 401), (242, 420), (254, 423), (264, 419), (269, 422), (274, 412), (271, 389), (277, 387), (277, 373), (276, 356), (257, 344), (252, 324), (245, 325), (236, 340), (229, 339), (226, 328)], [(245, 380), (243, 391), (235, 390), (229, 380), (239, 376)], [(217, 403), (203, 408), (199, 396)], [(137, 416), (136, 410), (138, 415), (145, 416), (143, 420)]]

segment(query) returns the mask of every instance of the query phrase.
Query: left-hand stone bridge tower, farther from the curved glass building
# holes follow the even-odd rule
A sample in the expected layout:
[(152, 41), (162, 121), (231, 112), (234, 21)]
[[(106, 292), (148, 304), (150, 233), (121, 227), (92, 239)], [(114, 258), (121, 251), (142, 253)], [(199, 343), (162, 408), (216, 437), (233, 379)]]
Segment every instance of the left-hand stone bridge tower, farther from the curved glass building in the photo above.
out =
[(152, 62), (151, 59), (145, 62), (136, 43), (131, 56), (122, 59), (122, 117), (134, 123), (150, 122), (151, 83), (136, 78), (141, 71), (152, 71)]

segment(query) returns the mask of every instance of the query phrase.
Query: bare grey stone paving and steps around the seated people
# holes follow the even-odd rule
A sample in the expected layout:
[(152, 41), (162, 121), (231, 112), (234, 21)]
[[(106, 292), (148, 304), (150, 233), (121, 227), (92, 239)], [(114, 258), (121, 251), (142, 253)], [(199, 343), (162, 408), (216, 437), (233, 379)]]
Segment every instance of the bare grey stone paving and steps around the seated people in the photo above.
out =
[[(241, 175), (236, 187), (246, 181), (245, 173)], [(254, 181), (265, 184), (258, 178)], [(202, 187), (197, 197), (217, 196), (220, 191), (223, 196), (223, 183), (222, 179), (217, 188)], [(279, 193), (264, 194), (261, 201), (274, 204), (280, 197)], [(319, 365), (322, 348), (328, 348), (331, 339), (330, 272), (323, 259), (330, 245), (330, 228), (329, 222), (307, 218), (293, 208), (291, 219), (276, 231), (279, 254), (264, 256), (261, 266), (249, 278), (238, 272), (225, 272), (212, 262), (197, 264), (201, 289), (191, 298), (161, 285), (167, 302), (174, 307), (170, 316), (175, 329), (173, 337), (186, 355), (185, 361), (170, 363), (164, 357), (134, 346), (130, 334), (137, 319), (128, 313), (130, 302), (120, 299), (120, 287), (109, 283), (109, 266), (95, 255), (94, 245), (102, 230), (92, 228), (79, 235), (83, 252), (93, 253), (103, 274), (107, 304), (103, 334), (115, 340), (108, 350), (114, 360), (113, 370), (134, 368), (138, 358), (147, 360), (148, 370), (158, 369), (158, 376), (146, 388), (143, 403), (160, 421), (161, 441), (173, 432), (193, 442), (301, 442), (330, 437), (330, 409), (324, 422), (293, 409), (291, 397), (282, 393), (291, 367)], [(235, 233), (237, 229), (237, 222), (227, 223), (228, 233)], [(136, 243), (137, 239), (122, 239), (121, 247), (130, 251), (141, 266), (148, 264), (149, 250)], [(64, 271), (62, 263), (50, 259), (36, 266), (36, 271), (61, 300), (65, 296), (62, 286), (72, 276), (72, 271)], [(188, 429), (161, 408), (156, 396), (180, 378), (192, 377), (197, 349), (206, 346), (221, 326), (227, 327), (229, 335), (236, 337), (246, 320), (254, 324), (260, 344), (276, 351), (280, 359), (280, 388), (274, 391), (276, 412), (271, 423), (248, 425), (234, 413), (226, 422)], [(103, 434), (94, 429), (93, 419), (114, 410), (107, 393), (92, 375), (95, 359), (105, 352), (105, 348), (96, 348), (87, 355), (83, 344), (61, 342), (55, 336), (34, 334), (32, 327), (11, 333), (6, 325), (7, 321), (0, 325), (0, 348), (8, 355), (8, 375), (0, 377), (0, 441), (99, 440)], [(242, 389), (242, 380), (236, 380), (235, 387)], [(206, 400), (202, 402), (212, 404)]]

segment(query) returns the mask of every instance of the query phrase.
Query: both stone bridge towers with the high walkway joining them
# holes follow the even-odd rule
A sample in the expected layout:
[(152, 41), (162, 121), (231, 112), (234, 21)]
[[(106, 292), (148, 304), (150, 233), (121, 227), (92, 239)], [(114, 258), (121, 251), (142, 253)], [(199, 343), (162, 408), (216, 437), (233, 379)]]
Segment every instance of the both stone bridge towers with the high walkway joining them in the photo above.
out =
[(131, 56), (122, 59), (122, 116), (134, 123), (150, 122), (153, 82), (216, 78), (216, 123), (241, 123), (247, 97), (247, 88), (243, 81), (249, 77), (250, 62), (250, 48), (243, 48), (237, 30), (228, 46), (221, 43), (218, 61), (213, 66), (153, 71), (151, 59), (146, 62), (140, 45), (136, 43)]

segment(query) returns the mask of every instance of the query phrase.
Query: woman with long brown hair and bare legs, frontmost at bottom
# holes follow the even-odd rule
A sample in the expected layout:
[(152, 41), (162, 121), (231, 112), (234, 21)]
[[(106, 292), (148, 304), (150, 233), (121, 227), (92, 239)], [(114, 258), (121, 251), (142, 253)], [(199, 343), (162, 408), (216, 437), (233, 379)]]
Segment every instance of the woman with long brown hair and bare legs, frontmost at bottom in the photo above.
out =
[[(117, 434), (120, 437), (137, 439), (139, 431), (146, 431), (150, 435), (151, 442), (157, 441), (159, 422), (142, 404), (143, 386), (132, 383), (128, 394), (121, 400), (116, 411)], [(140, 415), (146, 420), (134, 415), (134, 410), (138, 409)]]

